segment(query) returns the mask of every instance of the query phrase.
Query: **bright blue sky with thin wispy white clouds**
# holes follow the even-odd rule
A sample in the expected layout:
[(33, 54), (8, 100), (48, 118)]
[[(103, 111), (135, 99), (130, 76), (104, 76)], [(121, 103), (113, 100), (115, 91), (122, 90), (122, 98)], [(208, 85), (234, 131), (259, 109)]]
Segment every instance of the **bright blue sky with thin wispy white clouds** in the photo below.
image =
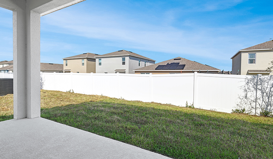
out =
[[(238, 50), (273, 38), (273, 1), (93, 1), (41, 17), (41, 62), (121, 49), (230, 70)], [(0, 8), (0, 61), (12, 60), (12, 11)], [(156, 62), (156, 63), (157, 63)]]

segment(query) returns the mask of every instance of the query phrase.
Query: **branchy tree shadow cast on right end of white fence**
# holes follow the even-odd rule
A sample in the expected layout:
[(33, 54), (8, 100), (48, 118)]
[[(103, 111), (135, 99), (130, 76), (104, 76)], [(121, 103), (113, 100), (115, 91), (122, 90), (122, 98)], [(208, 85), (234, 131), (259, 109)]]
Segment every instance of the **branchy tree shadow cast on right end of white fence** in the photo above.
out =
[[(273, 110), (273, 76), (251, 76), (244, 80), (244, 85), (241, 86), (243, 95), (239, 96), (239, 102), (237, 102), (237, 108), (245, 108), (246, 112), (259, 114), (261, 109), (268, 111)], [(257, 88), (257, 103), (256, 103), (256, 88)]]

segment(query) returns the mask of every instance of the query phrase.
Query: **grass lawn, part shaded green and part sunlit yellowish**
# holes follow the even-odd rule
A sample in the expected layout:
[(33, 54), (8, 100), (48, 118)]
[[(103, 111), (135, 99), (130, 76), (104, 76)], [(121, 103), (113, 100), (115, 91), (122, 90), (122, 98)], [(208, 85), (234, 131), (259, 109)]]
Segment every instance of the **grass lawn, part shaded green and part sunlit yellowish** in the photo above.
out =
[(172, 158), (273, 158), (273, 118), (46, 90), (41, 117)]

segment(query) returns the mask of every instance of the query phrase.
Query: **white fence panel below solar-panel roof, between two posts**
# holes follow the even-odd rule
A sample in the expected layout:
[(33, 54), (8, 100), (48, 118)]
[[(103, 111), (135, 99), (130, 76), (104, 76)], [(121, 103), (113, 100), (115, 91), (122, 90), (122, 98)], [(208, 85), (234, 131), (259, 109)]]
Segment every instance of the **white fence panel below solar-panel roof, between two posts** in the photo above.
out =
[(193, 103), (194, 74), (153, 75), (152, 89), (152, 101), (185, 106)]

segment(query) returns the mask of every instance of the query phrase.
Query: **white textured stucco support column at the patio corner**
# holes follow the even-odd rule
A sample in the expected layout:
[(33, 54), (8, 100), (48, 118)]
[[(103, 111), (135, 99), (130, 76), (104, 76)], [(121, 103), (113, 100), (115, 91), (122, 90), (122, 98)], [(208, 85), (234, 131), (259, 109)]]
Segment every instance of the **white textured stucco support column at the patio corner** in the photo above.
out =
[(40, 116), (40, 14), (13, 11), (14, 119)]

